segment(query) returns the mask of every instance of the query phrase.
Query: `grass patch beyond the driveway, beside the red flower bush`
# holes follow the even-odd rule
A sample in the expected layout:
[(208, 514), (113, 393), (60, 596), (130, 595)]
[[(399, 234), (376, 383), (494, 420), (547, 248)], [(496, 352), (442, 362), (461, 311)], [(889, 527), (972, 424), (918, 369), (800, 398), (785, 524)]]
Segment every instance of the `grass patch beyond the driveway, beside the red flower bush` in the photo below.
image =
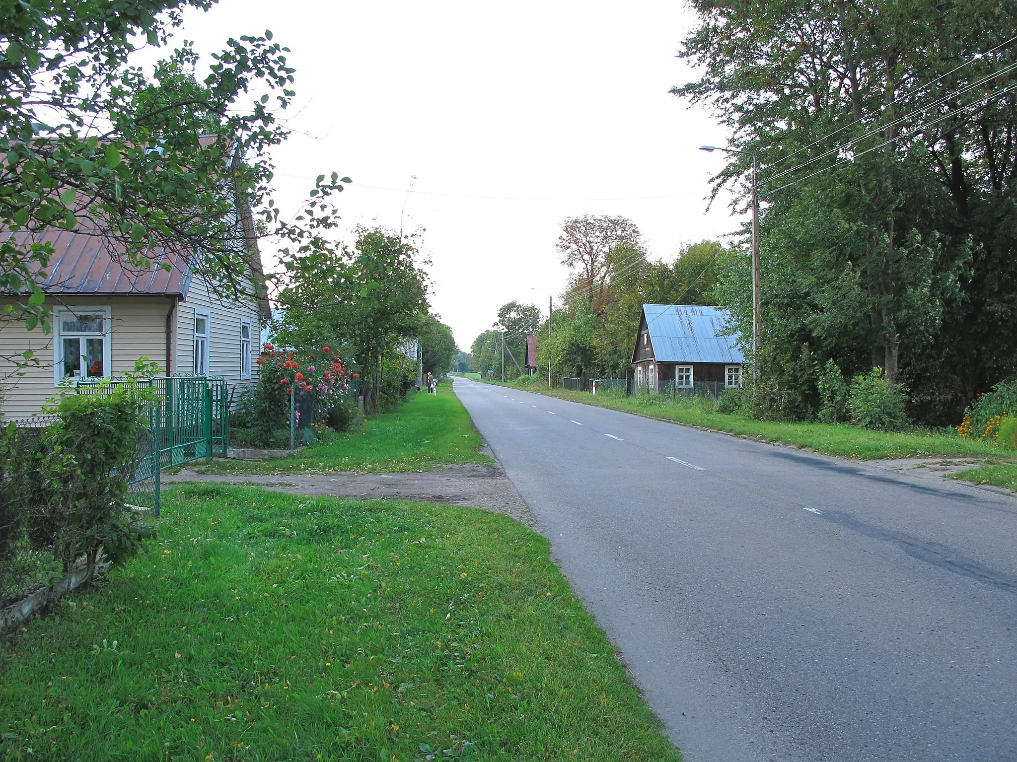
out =
[(490, 463), (480, 452), (480, 435), (470, 414), (447, 381), (437, 396), (410, 392), (396, 412), (371, 416), (363, 426), (336, 436), (328, 444), (258, 463), (217, 460), (201, 472), (406, 471), (428, 470), (443, 463)]

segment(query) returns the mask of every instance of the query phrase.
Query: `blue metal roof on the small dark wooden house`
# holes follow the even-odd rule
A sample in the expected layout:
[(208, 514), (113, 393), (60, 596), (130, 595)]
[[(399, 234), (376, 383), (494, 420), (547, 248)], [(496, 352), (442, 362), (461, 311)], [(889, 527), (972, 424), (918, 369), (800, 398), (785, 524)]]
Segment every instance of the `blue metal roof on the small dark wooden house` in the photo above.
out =
[(653, 355), (658, 363), (742, 363), (730, 313), (719, 307), (645, 304)]

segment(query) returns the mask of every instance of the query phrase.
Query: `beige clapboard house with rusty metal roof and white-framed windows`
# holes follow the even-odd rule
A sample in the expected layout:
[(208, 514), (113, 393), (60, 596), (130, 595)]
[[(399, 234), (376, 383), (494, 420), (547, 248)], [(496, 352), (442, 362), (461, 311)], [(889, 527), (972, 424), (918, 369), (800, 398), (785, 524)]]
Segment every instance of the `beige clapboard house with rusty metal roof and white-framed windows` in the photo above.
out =
[[(152, 266), (138, 271), (122, 264), (115, 243), (95, 228), (46, 231), (40, 240), (53, 245), (54, 255), (39, 282), (53, 330), (0, 320), (0, 420), (38, 416), (64, 379), (113, 378), (142, 356), (166, 375), (222, 377), (234, 397), (256, 384), (270, 309), (256, 241), (248, 238), (246, 294), (220, 299), (167, 249), (145, 252)], [(0, 294), (0, 311), (13, 300)], [(39, 363), (16, 375), (6, 359), (26, 351)]]

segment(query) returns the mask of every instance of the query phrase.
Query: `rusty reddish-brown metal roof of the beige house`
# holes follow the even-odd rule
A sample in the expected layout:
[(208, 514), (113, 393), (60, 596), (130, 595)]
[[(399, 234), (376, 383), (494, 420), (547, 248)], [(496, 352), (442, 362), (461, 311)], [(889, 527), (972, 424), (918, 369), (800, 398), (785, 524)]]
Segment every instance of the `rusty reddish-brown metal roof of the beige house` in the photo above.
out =
[[(166, 248), (144, 252), (152, 265), (134, 268), (118, 261), (121, 249), (93, 223), (71, 233), (53, 228), (42, 234), (8, 234), (19, 246), (49, 242), (53, 256), (45, 268), (34, 263), (36, 272), (45, 271), (39, 282), (47, 294), (131, 294), (187, 296), (191, 271), (183, 257)], [(170, 269), (163, 267), (170, 264)]]

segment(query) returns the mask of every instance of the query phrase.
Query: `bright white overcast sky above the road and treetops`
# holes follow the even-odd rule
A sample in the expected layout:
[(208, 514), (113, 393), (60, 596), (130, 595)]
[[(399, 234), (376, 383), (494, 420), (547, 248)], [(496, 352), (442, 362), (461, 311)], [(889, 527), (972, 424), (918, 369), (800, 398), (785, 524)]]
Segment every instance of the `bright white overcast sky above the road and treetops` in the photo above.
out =
[(354, 181), (339, 199), (351, 229), (423, 228), (431, 302), (469, 351), (503, 303), (546, 311), (562, 291), (566, 216), (626, 215), (668, 260), (735, 230), (725, 200), (706, 212), (724, 156), (698, 150), (725, 133), (667, 91), (691, 78), (681, 5), (221, 0), (176, 39), (202, 68), (229, 37), (272, 29), (292, 50), (277, 202), (295, 209), (336, 171)]

